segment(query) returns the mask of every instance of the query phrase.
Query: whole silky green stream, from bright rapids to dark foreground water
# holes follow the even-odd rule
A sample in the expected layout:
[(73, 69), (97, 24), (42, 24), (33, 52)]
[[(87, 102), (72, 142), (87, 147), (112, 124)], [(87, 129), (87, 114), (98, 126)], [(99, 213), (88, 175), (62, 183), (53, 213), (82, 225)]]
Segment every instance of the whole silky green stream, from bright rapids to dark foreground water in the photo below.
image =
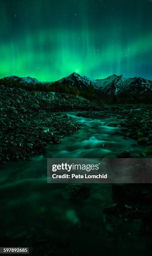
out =
[[(46, 183), (47, 158), (112, 158), (127, 150), (133, 157), (138, 157), (140, 148), (133, 146), (134, 140), (117, 134), (120, 129), (117, 117), (93, 120), (76, 113), (67, 115), (82, 124), (77, 133), (64, 138), (60, 144), (48, 146), (45, 156), (1, 165), (0, 217), (8, 241), (33, 244), (35, 240), (41, 240), (41, 236), (44, 238), (50, 234), (56, 238), (61, 234), (71, 237), (73, 228), (80, 237), (86, 236), (88, 243), (91, 239), (88, 230), (94, 233), (94, 239), (101, 240), (104, 236), (102, 209), (113, 203), (111, 185), (90, 184), (87, 199), (71, 202), (63, 197), (64, 184)], [(78, 239), (77, 233), (73, 233), (73, 239)]]

